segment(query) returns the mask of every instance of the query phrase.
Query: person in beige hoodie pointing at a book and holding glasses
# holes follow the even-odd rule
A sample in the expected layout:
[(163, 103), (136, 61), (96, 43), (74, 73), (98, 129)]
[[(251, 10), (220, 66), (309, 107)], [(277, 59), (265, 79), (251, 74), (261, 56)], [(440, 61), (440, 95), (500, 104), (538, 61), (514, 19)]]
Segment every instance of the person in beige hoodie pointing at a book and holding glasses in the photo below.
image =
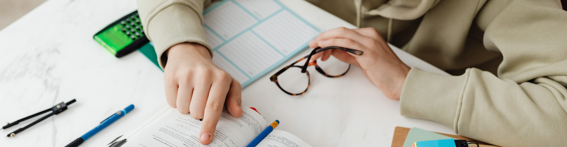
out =
[[(567, 11), (558, 0), (308, 0), (362, 29), (321, 33), (310, 47), (362, 68), (404, 116), (434, 120), (500, 146), (564, 146)], [(202, 31), (210, 1), (138, 0), (165, 71), (167, 102), (204, 118), (209, 144), (226, 103), (242, 115), (240, 84), (215, 66)], [(460, 76), (405, 66), (386, 41)]]

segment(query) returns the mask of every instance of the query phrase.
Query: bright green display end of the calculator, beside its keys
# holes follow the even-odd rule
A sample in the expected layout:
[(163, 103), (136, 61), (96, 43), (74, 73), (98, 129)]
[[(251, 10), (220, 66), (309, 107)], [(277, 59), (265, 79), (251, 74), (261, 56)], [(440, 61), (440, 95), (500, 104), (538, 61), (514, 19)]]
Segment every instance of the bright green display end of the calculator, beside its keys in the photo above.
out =
[(101, 45), (108, 49), (113, 54), (120, 51), (125, 46), (131, 44), (134, 40), (124, 34), (120, 29), (124, 28), (122, 24), (116, 24), (115, 26), (107, 29), (104, 32), (97, 34), (94, 38)]

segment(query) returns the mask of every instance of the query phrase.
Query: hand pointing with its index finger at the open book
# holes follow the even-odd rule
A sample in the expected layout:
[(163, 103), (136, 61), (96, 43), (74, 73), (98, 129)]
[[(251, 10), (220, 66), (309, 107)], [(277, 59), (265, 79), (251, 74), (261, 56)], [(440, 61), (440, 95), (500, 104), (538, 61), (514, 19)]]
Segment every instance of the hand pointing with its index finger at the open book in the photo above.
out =
[(213, 63), (205, 46), (181, 43), (170, 47), (164, 74), (167, 103), (180, 113), (203, 119), (201, 144), (213, 140), (224, 106), (232, 116), (242, 115), (240, 83)]

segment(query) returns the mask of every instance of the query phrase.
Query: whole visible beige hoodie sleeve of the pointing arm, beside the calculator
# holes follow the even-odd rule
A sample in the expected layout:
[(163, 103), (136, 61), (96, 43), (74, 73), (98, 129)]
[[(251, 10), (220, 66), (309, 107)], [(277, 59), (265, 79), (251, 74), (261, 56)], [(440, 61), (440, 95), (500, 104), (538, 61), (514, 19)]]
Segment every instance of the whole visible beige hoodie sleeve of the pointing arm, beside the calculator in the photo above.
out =
[(202, 27), (202, 12), (210, 1), (138, 0), (138, 13), (146, 36), (154, 43), (160, 67), (167, 62), (163, 53), (176, 44), (194, 42), (211, 51)]

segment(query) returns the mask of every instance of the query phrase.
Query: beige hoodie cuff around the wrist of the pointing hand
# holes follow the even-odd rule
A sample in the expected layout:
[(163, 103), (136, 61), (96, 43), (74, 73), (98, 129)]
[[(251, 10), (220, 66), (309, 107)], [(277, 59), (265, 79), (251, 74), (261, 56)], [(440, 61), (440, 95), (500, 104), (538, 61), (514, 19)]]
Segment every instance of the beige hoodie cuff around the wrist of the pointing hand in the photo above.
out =
[(191, 7), (173, 4), (159, 11), (148, 23), (148, 38), (154, 43), (159, 65), (164, 68), (167, 62), (162, 54), (171, 46), (183, 42), (194, 42), (205, 46), (211, 56), (211, 47), (206, 42), (199, 14)]

